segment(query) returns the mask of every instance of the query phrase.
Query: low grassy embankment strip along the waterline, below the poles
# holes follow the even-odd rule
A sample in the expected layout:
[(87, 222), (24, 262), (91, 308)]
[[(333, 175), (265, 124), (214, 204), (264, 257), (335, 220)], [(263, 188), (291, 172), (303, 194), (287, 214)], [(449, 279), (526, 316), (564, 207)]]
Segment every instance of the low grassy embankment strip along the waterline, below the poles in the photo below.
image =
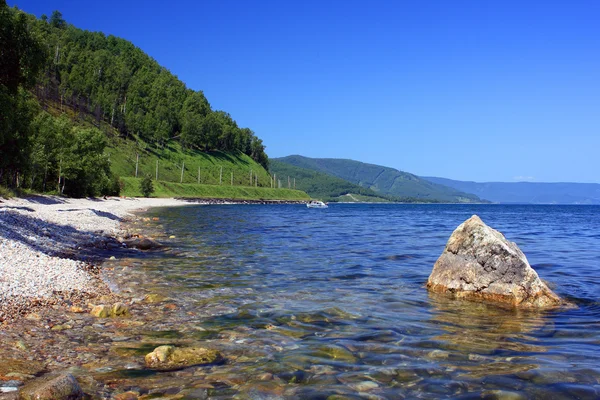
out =
[[(121, 178), (124, 187), (121, 195), (141, 197), (140, 178)], [(235, 200), (308, 200), (310, 197), (300, 190), (271, 189), (264, 187), (198, 185), (192, 183), (174, 183), (153, 181), (154, 193), (151, 197), (188, 197), (205, 199)]]

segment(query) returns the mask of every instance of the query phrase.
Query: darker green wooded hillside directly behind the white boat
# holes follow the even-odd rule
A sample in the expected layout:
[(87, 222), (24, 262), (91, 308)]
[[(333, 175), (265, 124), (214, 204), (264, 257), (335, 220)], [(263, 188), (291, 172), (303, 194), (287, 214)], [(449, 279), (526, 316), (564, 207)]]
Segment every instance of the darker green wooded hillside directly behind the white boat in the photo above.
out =
[(315, 199), (334, 202), (384, 202), (394, 200), (378, 196), (371, 189), (366, 189), (343, 179), (274, 159), (270, 160), (270, 171), (272, 175), (277, 176), (278, 180), (281, 180), (284, 187), (287, 187), (288, 177), (295, 179), (296, 189), (308, 193)]

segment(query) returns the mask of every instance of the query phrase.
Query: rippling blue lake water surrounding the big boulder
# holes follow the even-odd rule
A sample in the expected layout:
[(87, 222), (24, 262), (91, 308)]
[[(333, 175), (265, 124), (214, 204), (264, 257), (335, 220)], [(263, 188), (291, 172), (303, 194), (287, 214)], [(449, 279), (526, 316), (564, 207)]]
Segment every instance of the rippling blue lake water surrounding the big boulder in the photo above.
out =
[[(473, 214), (578, 308), (519, 312), (430, 295), (433, 264)], [(128, 260), (128, 279), (179, 305), (148, 323), (146, 338), (218, 348), (227, 360), (141, 374), (140, 386), (178, 382), (210, 398), (600, 397), (600, 207), (223, 205), (146, 216), (176, 239)]]

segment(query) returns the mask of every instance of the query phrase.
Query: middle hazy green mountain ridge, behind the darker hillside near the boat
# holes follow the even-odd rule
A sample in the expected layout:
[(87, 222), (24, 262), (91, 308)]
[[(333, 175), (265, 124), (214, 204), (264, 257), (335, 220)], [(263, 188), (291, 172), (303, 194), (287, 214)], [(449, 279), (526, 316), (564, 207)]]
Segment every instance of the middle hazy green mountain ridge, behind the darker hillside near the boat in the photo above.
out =
[(430, 182), (407, 172), (381, 165), (365, 164), (338, 158), (308, 158), (298, 155), (275, 159), (276, 161), (312, 171), (332, 175), (368, 188), (380, 195), (423, 201), (473, 203), (482, 200), (469, 193)]

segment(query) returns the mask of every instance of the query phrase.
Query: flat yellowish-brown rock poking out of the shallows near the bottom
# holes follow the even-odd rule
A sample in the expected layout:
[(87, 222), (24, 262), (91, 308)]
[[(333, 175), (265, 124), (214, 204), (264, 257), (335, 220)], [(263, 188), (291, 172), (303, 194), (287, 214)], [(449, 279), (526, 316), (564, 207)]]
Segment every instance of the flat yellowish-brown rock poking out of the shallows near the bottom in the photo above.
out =
[(147, 354), (145, 360), (150, 368), (172, 370), (217, 363), (223, 360), (223, 356), (217, 350), (202, 347), (159, 346)]

